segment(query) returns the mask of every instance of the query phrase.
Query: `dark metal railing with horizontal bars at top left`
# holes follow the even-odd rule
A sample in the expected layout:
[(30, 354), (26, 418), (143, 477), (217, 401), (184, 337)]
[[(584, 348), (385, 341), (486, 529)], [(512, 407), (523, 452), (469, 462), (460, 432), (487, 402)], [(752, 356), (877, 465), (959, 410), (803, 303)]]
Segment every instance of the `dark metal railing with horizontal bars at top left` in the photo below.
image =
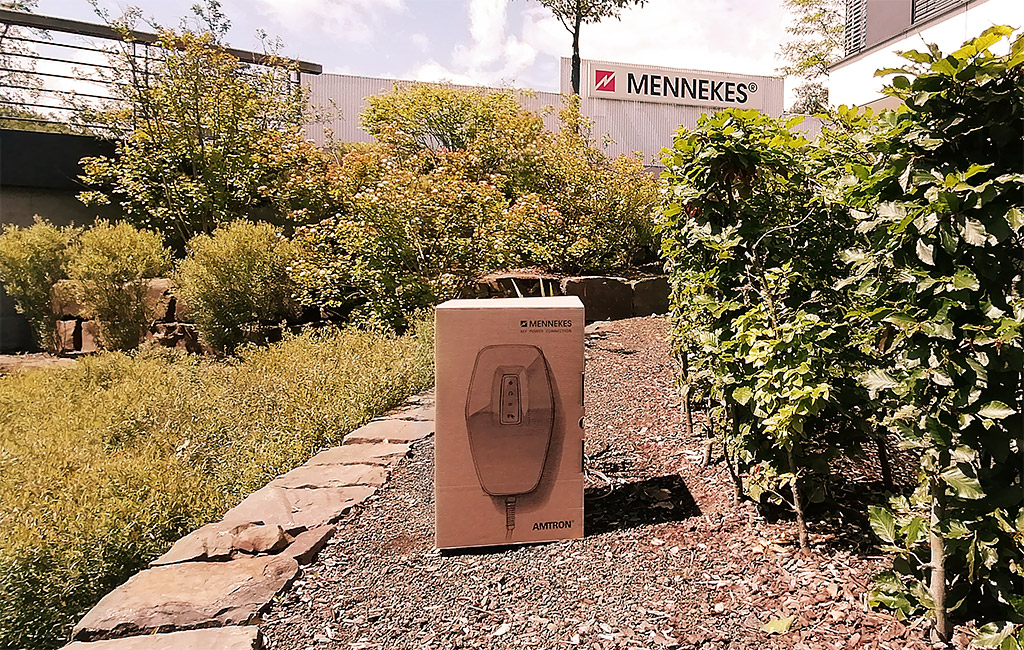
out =
[[(125, 71), (112, 64), (116, 47), (122, 49), (122, 60), (130, 57), (132, 67), (144, 72), (167, 53), (157, 34), (0, 9), (0, 123), (29, 129), (104, 129), (90, 123), (88, 116), (122, 101), (117, 88), (125, 85)], [(220, 49), (247, 66), (284, 66), (294, 84), (301, 83), (303, 74), (323, 72), (309, 61)]]

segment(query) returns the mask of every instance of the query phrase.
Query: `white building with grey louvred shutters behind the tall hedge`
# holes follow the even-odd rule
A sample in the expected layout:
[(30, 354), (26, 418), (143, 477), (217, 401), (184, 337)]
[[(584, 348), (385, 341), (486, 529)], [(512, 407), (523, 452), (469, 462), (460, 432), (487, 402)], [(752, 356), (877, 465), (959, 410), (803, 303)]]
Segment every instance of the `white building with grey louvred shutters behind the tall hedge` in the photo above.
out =
[(847, 0), (846, 55), (829, 70), (828, 101), (834, 105), (891, 107), (882, 93), (886, 68), (903, 68), (896, 52), (959, 49), (993, 25), (1024, 28), (1024, 0)]

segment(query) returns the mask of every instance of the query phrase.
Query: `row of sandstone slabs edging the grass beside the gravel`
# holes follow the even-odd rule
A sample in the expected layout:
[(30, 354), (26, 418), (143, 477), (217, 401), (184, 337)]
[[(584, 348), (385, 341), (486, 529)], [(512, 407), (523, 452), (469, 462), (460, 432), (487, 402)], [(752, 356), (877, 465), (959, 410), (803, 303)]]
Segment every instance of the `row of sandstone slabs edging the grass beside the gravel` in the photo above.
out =
[(178, 539), (89, 610), (63, 650), (260, 650), (259, 615), (433, 432), (431, 389)]

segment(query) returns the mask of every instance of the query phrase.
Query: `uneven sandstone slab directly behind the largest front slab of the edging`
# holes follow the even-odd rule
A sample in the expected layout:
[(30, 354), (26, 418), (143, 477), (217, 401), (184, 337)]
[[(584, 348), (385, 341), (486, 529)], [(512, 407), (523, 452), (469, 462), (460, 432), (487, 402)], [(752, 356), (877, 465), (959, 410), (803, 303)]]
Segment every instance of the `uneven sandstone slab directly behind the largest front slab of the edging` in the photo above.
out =
[(291, 543), (285, 529), (276, 524), (207, 524), (174, 543), (174, 546), (150, 563), (165, 566), (178, 562), (227, 559), (236, 552), (276, 553)]

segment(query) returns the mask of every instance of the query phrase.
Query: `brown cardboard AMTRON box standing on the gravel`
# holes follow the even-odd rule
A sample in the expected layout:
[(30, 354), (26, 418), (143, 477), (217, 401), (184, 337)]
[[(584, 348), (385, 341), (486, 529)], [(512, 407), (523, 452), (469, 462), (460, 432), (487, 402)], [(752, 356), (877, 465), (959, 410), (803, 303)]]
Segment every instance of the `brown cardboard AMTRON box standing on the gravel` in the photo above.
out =
[(437, 548), (582, 537), (583, 303), (451, 300), (434, 318)]

